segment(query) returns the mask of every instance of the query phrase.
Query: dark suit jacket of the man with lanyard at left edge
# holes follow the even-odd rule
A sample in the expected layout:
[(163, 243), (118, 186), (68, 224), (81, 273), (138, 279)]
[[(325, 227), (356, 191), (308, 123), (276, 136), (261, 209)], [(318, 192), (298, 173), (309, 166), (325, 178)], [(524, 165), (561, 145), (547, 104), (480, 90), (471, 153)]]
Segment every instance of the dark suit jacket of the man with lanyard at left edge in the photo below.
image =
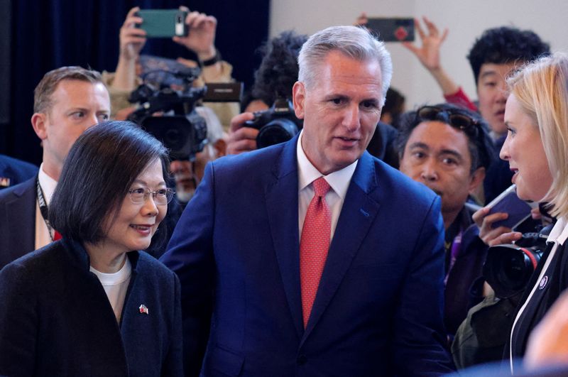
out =
[(0, 269), (35, 250), (35, 177), (0, 190)]

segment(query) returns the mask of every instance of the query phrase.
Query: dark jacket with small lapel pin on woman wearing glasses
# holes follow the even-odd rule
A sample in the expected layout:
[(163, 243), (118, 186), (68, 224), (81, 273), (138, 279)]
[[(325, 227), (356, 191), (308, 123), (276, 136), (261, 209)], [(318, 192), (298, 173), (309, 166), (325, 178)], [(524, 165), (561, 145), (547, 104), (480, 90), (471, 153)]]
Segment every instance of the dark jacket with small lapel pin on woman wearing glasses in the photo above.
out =
[(57, 241), (3, 268), (0, 375), (182, 376), (179, 280), (146, 253), (127, 255), (120, 324), (79, 244)]

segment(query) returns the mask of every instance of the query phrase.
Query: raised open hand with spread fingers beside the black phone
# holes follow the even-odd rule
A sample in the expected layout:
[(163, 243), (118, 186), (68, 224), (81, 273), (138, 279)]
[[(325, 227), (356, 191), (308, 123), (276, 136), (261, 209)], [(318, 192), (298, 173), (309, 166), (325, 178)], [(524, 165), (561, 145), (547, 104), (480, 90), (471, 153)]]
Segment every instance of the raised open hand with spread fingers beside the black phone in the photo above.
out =
[(439, 48), (442, 43), (444, 43), (444, 40), (448, 35), (448, 29), (445, 28), (440, 34), (435, 23), (426, 17), (422, 17), (422, 20), (424, 21), (428, 33), (425, 33), (424, 29), (422, 29), (420, 21), (416, 19), (414, 20), (416, 31), (418, 32), (418, 35), (420, 35), (420, 40), (422, 41), (422, 46), (418, 47), (411, 42), (403, 42), (403, 46), (412, 51), (414, 55), (416, 55), (416, 58), (420, 60), (422, 65), (432, 72), (439, 70), (440, 68)]

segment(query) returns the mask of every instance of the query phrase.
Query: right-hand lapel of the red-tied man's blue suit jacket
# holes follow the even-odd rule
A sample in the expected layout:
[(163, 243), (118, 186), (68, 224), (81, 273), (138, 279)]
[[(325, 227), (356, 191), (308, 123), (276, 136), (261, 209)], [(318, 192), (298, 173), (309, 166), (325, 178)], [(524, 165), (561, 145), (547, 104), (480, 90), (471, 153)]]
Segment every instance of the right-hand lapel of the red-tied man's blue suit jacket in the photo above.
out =
[(379, 204), (369, 196), (376, 187), (373, 158), (364, 153), (347, 190), (302, 342), (332, 300), (378, 213)]

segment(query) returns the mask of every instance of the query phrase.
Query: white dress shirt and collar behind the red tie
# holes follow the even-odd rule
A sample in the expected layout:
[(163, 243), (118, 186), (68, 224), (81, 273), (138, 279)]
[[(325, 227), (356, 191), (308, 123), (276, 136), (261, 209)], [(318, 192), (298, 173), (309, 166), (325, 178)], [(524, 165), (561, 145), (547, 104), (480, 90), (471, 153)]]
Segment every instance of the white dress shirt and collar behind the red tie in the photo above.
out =
[[(317, 180), (319, 177), (324, 177), (329, 186), (332, 187), (331, 190), (325, 195), (325, 202), (332, 212), (332, 231), (331, 239), (335, 233), (335, 227), (337, 226), (337, 220), (339, 219), (339, 214), (342, 212), (343, 202), (345, 200), (345, 195), (347, 194), (347, 189), (349, 188), (349, 183), (351, 182), (351, 177), (355, 172), (357, 167), (357, 161), (351, 163), (351, 165), (346, 166), (342, 170), (337, 170), (328, 175), (323, 175), (317, 168), (315, 168), (310, 160), (307, 159), (304, 149), (302, 148), (302, 136), (304, 131), (300, 133), (300, 137), (297, 138), (297, 188), (298, 188), (298, 200), (297, 200), (297, 225), (300, 231), (300, 239), (302, 239), (302, 228), (304, 226), (304, 219), (306, 217), (307, 207), (310, 205), (312, 198), (315, 195), (315, 191), (312, 182)], [(330, 240), (331, 240), (330, 239)]]

